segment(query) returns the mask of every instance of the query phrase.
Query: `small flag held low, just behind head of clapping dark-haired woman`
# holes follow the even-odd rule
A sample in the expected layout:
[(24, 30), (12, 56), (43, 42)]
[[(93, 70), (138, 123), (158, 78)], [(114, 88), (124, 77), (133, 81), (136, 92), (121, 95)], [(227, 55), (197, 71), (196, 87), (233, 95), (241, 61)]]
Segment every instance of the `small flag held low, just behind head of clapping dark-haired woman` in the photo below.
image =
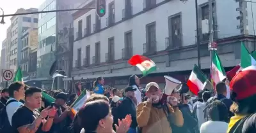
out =
[(88, 92), (88, 90), (83, 90), (79, 97), (77, 97), (76, 101), (70, 106), (73, 115), (76, 115), (77, 111), (83, 107), (86, 99), (89, 97), (90, 92)]

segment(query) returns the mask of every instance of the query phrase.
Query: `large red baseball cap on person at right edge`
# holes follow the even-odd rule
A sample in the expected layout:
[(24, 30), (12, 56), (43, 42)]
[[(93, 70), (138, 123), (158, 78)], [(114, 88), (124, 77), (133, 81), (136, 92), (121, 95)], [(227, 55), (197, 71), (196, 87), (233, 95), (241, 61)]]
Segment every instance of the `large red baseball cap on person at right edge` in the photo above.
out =
[(230, 90), (236, 93), (236, 100), (256, 94), (256, 66), (244, 68), (230, 81)]

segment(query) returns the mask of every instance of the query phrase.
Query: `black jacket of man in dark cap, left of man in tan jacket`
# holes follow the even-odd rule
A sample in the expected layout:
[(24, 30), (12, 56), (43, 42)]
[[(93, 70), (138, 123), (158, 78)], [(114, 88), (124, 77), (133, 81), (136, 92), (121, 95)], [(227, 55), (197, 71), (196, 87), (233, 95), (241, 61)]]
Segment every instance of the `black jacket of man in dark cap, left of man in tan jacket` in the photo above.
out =
[(130, 127), (136, 129), (136, 127), (138, 126), (136, 118), (136, 105), (129, 97), (124, 97), (124, 100), (118, 107), (118, 118), (122, 120), (123, 118), (125, 118), (126, 115), (132, 116), (132, 123)]

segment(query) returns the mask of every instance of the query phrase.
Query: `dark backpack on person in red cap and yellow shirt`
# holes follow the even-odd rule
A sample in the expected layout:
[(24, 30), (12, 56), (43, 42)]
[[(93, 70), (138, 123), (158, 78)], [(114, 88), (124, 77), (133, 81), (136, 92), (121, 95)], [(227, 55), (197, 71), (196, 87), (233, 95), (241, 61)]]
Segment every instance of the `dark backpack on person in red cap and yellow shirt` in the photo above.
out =
[(241, 118), (240, 120), (238, 120), (233, 127), (231, 127), (231, 129), (229, 130), (228, 133), (242, 133), (242, 129), (244, 127), (245, 121), (250, 118), (250, 116), (252, 116), (253, 114), (246, 116), (244, 118)]

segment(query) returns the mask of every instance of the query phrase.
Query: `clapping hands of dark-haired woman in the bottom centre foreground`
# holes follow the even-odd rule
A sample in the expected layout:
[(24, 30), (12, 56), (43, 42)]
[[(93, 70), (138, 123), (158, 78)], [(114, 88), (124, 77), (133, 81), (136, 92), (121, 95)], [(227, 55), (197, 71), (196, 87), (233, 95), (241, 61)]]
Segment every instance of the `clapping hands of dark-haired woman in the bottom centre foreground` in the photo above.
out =
[(126, 133), (128, 132), (130, 125), (132, 123), (132, 116), (126, 115), (124, 119), (118, 119), (118, 125), (115, 124), (116, 133)]

